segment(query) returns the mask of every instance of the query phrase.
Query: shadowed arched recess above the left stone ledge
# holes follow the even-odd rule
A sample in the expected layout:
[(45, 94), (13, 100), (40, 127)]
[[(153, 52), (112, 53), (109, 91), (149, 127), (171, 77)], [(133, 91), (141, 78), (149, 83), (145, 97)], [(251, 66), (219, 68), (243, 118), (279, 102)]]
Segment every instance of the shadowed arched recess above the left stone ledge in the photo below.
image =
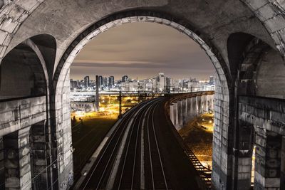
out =
[(3, 58), (0, 67), (2, 100), (46, 95), (46, 63), (31, 39), (10, 51)]

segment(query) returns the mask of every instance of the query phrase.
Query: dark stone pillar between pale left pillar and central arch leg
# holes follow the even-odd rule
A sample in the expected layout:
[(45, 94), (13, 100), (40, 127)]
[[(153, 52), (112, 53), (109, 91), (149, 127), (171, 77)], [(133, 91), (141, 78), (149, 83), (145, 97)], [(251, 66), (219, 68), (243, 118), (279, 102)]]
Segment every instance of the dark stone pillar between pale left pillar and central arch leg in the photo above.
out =
[(46, 122), (38, 122), (31, 126), (31, 176), (35, 189), (48, 189), (47, 167), (48, 152), (46, 150), (46, 138), (48, 133), (45, 132)]

